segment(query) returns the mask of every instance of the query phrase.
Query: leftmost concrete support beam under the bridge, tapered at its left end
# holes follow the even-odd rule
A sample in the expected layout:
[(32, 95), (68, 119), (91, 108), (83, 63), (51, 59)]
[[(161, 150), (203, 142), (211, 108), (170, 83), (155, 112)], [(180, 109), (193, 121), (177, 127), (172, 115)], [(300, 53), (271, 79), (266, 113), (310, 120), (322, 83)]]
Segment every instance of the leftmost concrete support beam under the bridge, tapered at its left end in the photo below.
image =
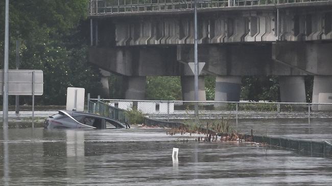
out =
[(176, 47), (89, 48), (89, 62), (125, 76), (178, 76)]

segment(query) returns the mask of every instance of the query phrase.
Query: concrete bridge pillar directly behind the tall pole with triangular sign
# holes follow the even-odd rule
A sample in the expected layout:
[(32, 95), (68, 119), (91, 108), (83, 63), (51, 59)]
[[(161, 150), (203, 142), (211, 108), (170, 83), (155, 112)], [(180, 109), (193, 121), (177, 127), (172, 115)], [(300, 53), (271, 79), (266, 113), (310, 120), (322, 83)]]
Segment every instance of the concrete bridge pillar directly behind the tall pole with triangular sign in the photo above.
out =
[[(181, 76), (182, 100), (195, 101), (194, 76)], [(204, 77), (198, 77), (198, 101), (206, 101)]]

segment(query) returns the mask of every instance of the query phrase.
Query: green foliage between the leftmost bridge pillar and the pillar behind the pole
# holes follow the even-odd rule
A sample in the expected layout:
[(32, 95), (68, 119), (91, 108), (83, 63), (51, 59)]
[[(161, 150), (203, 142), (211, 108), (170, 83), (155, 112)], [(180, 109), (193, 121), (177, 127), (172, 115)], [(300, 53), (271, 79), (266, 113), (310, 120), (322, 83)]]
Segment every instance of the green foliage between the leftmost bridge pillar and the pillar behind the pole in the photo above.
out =
[(180, 77), (147, 77), (148, 100), (182, 100)]

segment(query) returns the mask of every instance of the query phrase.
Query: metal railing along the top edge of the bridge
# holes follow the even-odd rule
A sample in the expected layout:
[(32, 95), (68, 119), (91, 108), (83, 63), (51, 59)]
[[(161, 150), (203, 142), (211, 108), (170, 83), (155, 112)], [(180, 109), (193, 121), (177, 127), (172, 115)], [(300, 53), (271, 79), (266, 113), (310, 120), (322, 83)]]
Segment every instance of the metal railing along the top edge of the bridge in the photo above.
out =
[[(198, 9), (260, 6), (330, 0), (197, 0)], [(90, 0), (89, 15), (181, 11), (194, 9), (194, 0)]]

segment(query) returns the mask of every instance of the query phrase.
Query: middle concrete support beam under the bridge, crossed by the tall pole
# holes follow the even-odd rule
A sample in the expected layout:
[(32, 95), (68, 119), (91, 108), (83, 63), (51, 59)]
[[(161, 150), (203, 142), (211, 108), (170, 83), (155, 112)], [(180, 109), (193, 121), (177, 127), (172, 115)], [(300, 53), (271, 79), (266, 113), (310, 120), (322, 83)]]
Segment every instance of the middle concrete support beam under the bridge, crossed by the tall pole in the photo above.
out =
[[(198, 61), (205, 62), (203, 73), (217, 76), (306, 75), (297, 69), (272, 60), (272, 45), (200, 45)], [(177, 60), (194, 61), (191, 46), (177, 46)], [(182, 70), (180, 74), (192, 75)]]

